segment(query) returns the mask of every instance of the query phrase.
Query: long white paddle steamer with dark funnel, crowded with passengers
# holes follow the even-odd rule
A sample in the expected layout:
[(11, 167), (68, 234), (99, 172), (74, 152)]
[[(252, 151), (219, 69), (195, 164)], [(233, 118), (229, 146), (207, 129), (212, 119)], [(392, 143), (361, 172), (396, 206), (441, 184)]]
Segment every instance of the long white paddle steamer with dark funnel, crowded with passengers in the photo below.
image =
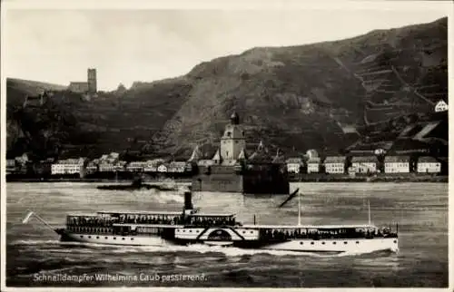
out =
[(372, 224), (301, 225), (301, 200), (296, 225), (242, 225), (235, 214), (202, 214), (184, 193), (182, 211), (99, 211), (67, 215), (64, 228), (54, 229), (34, 212), (32, 216), (53, 229), (61, 241), (128, 246), (203, 244), (304, 252), (369, 253), (399, 250), (398, 226), (379, 229)]

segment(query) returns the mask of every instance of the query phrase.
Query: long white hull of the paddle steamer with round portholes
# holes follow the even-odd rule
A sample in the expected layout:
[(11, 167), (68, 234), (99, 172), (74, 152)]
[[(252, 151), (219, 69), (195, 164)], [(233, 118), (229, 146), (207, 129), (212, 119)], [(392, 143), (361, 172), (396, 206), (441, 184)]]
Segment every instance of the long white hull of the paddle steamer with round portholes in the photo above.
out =
[(160, 236), (119, 236), (105, 234), (73, 233), (67, 230), (59, 232), (61, 241), (121, 246), (186, 246), (202, 244), (206, 246), (256, 248), (265, 250), (284, 250), (310, 253), (371, 253), (375, 251), (399, 250), (398, 238), (349, 238), (349, 239), (289, 239), (276, 241), (267, 240), (213, 240), (213, 239), (181, 239), (162, 238)]

